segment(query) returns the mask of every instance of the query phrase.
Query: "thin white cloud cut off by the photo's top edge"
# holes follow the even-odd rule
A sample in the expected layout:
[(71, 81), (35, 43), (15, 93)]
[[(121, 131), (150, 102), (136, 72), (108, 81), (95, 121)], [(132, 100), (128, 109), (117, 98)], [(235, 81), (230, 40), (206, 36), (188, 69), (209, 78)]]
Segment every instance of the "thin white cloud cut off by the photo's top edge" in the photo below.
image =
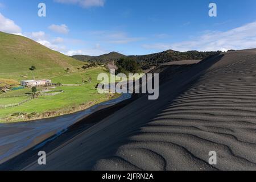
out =
[(82, 7), (88, 8), (93, 6), (104, 6), (105, 0), (55, 0), (55, 2), (80, 5)]

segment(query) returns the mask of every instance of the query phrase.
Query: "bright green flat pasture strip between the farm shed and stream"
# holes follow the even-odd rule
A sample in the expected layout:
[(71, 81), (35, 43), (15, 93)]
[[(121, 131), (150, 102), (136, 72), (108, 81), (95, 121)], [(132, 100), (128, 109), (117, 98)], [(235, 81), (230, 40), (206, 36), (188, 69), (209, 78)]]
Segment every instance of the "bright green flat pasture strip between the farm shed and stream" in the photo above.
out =
[[(98, 94), (97, 90), (93, 89), (93, 85), (90, 86), (91, 88), (88, 85), (78, 86), (76, 88), (73, 88), (71, 86), (61, 86), (60, 89), (63, 89), (64, 92), (56, 96), (41, 96), (18, 107), (1, 109), (0, 121), (5, 122), (3, 118), (6, 118), (8, 116), (10, 117), (11, 114), (18, 112), (27, 114), (34, 112), (43, 113), (46, 111), (57, 111), (60, 109), (76, 107), (81, 104), (86, 104), (86, 102), (89, 101), (94, 101), (95, 103), (98, 103), (99, 101), (106, 100), (106, 94)], [(2, 100), (0, 101), (2, 102)], [(14, 100), (9, 101), (14, 102)], [(7, 104), (7, 102), (5, 102), (4, 104)]]

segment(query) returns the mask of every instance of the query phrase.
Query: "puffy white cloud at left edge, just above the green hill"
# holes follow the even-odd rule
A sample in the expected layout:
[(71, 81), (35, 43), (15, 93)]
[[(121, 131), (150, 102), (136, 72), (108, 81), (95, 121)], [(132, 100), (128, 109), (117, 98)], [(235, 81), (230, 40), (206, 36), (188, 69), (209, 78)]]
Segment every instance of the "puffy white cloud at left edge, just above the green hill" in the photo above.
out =
[(6, 18), (0, 13), (0, 31), (21, 35), (22, 29), (13, 20)]

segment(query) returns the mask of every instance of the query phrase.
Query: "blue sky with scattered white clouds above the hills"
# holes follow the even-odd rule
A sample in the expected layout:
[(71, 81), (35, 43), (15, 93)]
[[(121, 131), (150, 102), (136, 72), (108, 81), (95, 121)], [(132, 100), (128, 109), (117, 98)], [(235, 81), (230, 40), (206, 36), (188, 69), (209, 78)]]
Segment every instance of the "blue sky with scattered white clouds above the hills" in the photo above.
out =
[[(217, 17), (208, 15), (211, 2)], [(255, 0), (0, 0), (0, 31), (67, 55), (225, 51), (256, 48), (255, 9)]]

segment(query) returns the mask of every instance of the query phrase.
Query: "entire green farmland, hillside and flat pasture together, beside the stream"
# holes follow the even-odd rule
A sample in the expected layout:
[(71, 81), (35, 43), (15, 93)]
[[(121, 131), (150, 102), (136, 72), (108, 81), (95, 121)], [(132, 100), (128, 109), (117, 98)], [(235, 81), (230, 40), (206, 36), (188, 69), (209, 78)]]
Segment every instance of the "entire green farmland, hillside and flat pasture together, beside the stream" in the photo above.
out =
[[(52, 90), (63, 90), (55, 96), (40, 96), (20, 106), (0, 109), (0, 122), (27, 121), (53, 117), (86, 109), (89, 106), (109, 100), (113, 94), (98, 94), (95, 86), (100, 73), (108, 73), (104, 67), (82, 69), (88, 64), (42, 46), (23, 36), (0, 32), (0, 86), (18, 86), (22, 80), (51, 79), (53, 83), (79, 84), (60, 86)], [(36, 69), (31, 71), (31, 66)], [(68, 69), (67, 69), (68, 68)], [(67, 71), (68, 70), (68, 71)], [(108, 73), (109, 74), (109, 73)], [(92, 82), (82, 84), (82, 80)], [(38, 88), (40, 92), (40, 88)], [(19, 96), (31, 93), (31, 88), (0, 92), (1, 96)], [(0, 98), (0, 105), (15, 104), (24, 97)], [(51, 114), (45, 114), (45, 113)], [(18, 113), (18, 114), (17, 114)], [(24, 114), (20, 117), (19, 114)], [(32, 117), (27, 117), (31, 115)]]

